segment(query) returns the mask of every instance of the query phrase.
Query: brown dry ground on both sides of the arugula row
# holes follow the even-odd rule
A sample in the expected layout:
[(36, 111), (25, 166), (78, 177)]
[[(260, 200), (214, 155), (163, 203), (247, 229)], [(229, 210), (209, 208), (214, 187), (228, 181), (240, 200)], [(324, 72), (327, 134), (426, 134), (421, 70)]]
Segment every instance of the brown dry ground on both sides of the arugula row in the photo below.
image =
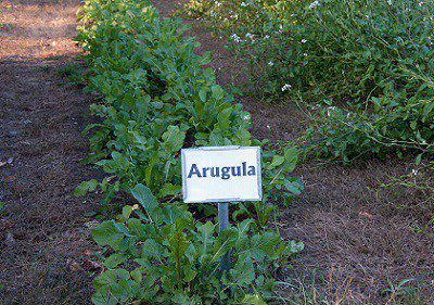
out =
[[(153, 2), (164, 16), (178, 5)], [(73, 41), (78, 5), (78, 0), (0, 2), (0, 164), (5, 163), (0, 166), (0, 304), (90, 303), (95, 247), (85, 215), (98, 199), (76, 199), (73, 189), (102, 175), (79, 163), (87, 153), (80, 131), (92, 120), (91, 99), (78, 87), (58, 86), (59, 68), (80, 52)], [(200, 24), (192, 26), (189, 35), (202, 42), (199, 52), (215, 52), (217, 79), (228, 85), (237, 66), (224, 42)], [(239, 101), (252, 113), (257, 138), (291, 141), (305, 127), (291, 103)], [(308, 283), (319, 270), (330, 303), (345, 295), (336, 304), (385, 304), (390, 296), (381, 292), (387, 280), (413, 278), (412, 284), (423, 284), (419, 304), (434, 304), (434, 240), (413, 230), (433, 209), (419, 206), (417, 193), (376, 196), (373, 191), (411, 169), (393, 158), (352, 167), (301, 165), (295, 174), (306, 192), (282, 209), (278, 225), (306, 249), (282, 280)]]

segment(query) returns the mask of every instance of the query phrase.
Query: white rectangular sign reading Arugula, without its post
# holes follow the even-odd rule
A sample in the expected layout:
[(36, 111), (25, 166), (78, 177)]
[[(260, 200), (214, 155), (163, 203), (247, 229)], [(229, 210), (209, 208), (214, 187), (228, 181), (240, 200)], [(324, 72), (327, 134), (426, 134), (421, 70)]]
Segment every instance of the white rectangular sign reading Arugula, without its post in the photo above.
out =
[(260, 148), (183, 149), (184, 202), (260, 201)]

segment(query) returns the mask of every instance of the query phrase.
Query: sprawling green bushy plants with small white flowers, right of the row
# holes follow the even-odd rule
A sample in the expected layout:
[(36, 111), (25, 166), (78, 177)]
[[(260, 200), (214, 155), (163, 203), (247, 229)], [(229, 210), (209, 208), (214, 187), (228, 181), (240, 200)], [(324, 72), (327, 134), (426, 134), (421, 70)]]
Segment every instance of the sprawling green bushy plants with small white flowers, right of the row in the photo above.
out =
[(226, 35), (263, 92), (322, 110), (304, 139), (309, 150), (344, 161), (433, 152), (432, 1), (193, 2), (190, 12)]

